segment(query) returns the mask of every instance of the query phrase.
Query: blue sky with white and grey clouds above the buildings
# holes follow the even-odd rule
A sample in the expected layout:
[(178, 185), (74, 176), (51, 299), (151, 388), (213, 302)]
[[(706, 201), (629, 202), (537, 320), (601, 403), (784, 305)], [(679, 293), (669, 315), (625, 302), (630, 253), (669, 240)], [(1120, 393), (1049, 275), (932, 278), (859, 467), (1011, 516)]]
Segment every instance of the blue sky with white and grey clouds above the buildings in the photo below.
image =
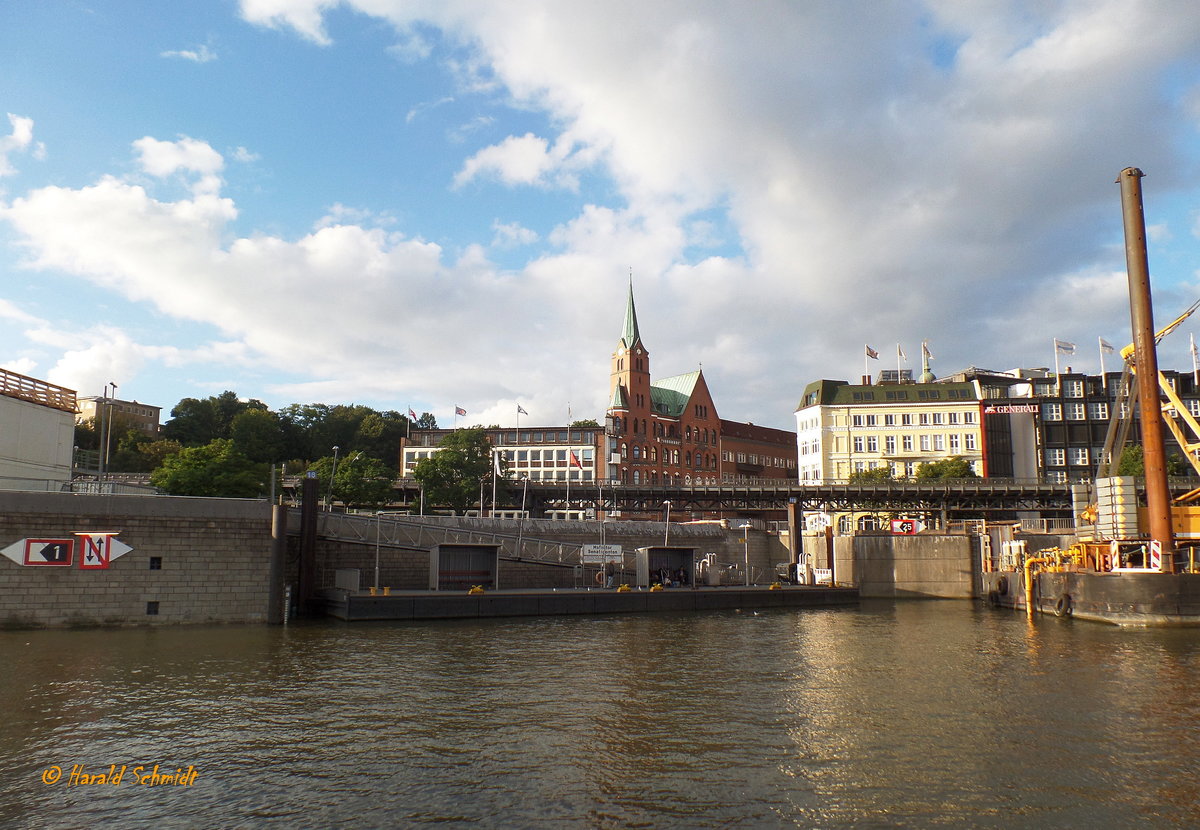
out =
[(922, 342), (1096, 372), (1123, 168), (1156, 323), (1200, 299), (1198, 127), (1194, 0), (5, 0), (0, 367), (559, 425), (632, 283), (737, 421)]

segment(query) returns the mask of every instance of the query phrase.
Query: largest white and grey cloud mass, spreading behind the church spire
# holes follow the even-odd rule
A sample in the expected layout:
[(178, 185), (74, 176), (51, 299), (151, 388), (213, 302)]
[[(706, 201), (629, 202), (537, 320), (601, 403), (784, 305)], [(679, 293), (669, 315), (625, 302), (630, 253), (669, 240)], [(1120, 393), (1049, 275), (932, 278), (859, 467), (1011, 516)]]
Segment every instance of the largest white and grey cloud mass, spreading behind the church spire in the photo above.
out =
[[(388, 233), (340, 206), (298, 239), (235, 236), (222, 160), (186, 137), (138, 149), (148, 174), (198, 179), (188, 198), (108, 178), (14, 200), (4, 215), (31, 261), (220, 326), (246, 355), (305, 367), (296, 384), (422, 390), (472, 411), (521, 399), (547, 417), (568, 396), (602, 409), (632, 269), (655, 373), (703, 361), (722, 416), (787, 426), (804, 383), (862, 371), (864, 342), (912, 356), (929, 338), (943, 372), (1044, 362), (1056, 336), (1116, 343), (1116, 173), (1151, 173), (1150, 200), (1195, 190), (1200, 95), (1163, 85), (1196, 56), (1184, 0), (1138, 14), (1117, 0), (241, 10), (328, 44), (335, 6), (400, 41), (421, 32), (407, 56), (437, 54), (458, 98), (494, 106), (487, 126), (508, 138), (474, 139), (486, 146), (463, 152), (456, 187), (523, 187), (530, 213), (562, 197), (544, 192), (578, 188), (575, 215), (535, 225), (557, 222), (540, 239), (524, 216), (482, 231), (498, 248), (541, 242), (523, 267), (500, 272), (486, 239), (448, 240), (448, 257), (419, 236), (442, 241), (439, 228)], [(427, 52), (433, 30), (444, 42)], [(583, 190), (593, 178), (604, 190)], [(1157, 224), (1151, 236), (1174, 242)]]

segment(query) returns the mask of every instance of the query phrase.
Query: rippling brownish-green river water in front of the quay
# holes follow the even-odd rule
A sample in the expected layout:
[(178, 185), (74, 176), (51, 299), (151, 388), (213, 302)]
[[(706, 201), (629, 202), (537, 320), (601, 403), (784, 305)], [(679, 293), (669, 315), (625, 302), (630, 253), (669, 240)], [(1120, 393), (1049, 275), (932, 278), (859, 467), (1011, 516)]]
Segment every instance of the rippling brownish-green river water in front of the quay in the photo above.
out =
[(865, 603), (0, 632), (0, 669), (2, 828), (1200, 824), (1200, 631)]

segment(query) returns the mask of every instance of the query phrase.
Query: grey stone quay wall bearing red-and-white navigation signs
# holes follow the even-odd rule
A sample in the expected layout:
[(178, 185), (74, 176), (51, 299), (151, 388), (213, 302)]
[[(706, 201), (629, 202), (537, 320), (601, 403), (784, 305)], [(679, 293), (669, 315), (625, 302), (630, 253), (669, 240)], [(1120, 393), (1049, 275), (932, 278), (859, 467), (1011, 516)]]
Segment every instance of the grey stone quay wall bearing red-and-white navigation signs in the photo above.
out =
[[(0, 626), (262, 622), (270, 505), (233, 499), (0, 492), (0, 548), (116, 530), (132, 548), (107, 570), (0, 557)], [(154, 567), (157, 565), (158, 567)]]

